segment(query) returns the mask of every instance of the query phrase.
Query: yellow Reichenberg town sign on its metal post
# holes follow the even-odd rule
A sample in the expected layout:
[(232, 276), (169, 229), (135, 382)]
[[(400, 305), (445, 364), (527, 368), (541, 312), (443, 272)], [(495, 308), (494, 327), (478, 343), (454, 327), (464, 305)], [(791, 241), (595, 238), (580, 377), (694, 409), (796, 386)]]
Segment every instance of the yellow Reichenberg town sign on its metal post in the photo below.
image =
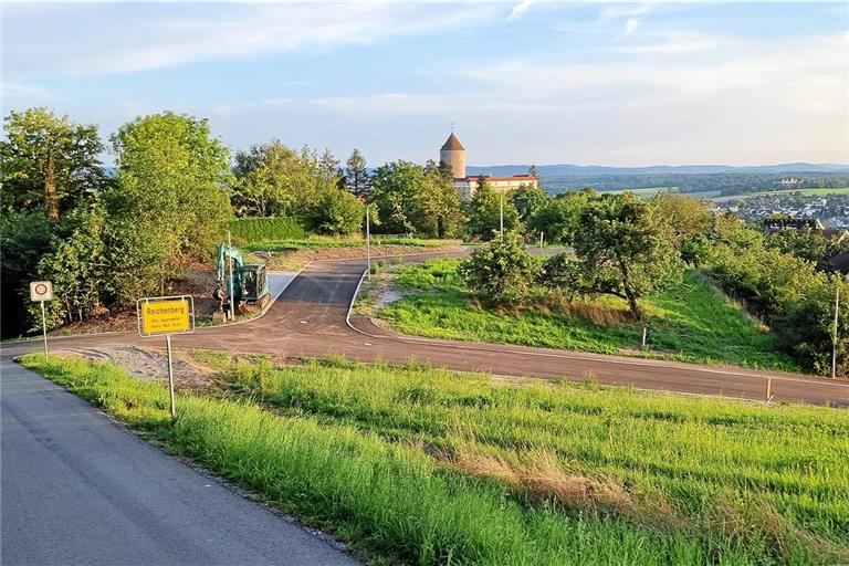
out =
[(177, 418), (174, 403), (174, 361), (171, 357), (171, 334), (195, 332), (195, 298), (188, 295), (157, 296), (139, 298), (136, 303), (138, 313), (138, 334), (160, 336), (165, 334), (168, 352), (168, 397), (170, 398), (171, 419)]

